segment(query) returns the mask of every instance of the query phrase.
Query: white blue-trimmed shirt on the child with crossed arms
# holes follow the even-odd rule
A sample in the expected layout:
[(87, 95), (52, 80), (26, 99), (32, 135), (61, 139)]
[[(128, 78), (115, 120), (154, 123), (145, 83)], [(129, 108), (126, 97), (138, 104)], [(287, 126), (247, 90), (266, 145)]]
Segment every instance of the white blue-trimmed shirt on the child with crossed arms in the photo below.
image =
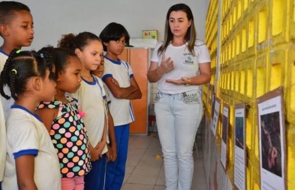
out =
[[(120, 87), (126, 88), (130, 86), (130, 79), (134, 76), (132, 68), (127, 62), (120, 59), (115, 61), (105, 56), (102, 80), (105, 81), (108, 77), (116, 79)], [(114, 125), (126, 125), (135, 121), (130, 100), (116, 98), (109, 89), (108, 91), (112, 102), (110, 104), (110, 112)]]

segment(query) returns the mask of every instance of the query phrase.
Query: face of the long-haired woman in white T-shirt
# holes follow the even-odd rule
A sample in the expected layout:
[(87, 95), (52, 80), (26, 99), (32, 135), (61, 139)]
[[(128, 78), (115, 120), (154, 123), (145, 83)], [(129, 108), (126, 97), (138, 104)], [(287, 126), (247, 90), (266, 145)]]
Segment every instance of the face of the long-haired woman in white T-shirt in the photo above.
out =
[(176, 37), (184, 37), (191, 21), (187, 19), (184, 11), (172, 11), (169, 16), (169, 27)]

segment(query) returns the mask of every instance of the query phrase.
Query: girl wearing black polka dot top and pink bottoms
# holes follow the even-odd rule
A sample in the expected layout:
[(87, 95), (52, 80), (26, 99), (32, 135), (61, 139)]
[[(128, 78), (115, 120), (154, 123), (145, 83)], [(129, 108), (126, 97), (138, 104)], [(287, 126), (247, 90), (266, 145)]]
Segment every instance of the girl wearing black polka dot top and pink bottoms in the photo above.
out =
[(80, 87), (82, 64), (68, 50), (47, 47), (56, 68), (56, 95), (52, 102), (41, 102), (36, 114), (43, 120), (59, 157), (62, 190), (84, 190), (84, 176), (91, 169), (89, 142), (78, 102), (65, 93)]

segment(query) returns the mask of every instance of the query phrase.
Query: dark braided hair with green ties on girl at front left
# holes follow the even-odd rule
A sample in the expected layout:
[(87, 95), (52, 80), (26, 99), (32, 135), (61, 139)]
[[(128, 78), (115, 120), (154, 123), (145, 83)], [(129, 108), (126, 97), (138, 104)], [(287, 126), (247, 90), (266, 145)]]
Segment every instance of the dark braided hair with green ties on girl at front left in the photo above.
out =
[[(52, 61), (45, 59), (34, 51), (22, 51), (14, 49), (9, 54), (3, 71), (0, 75), (0, 94), (5, 99), (12, 97), (14, 100), (18, 100), (17, 95), (20, 95), (26, 91), (27, 82), (31, 77), (46, 76), (46, 70), (49, 69), (52, 74)], [(54, 79), (54, 77), (50, 77)], [(4, 86), (8, 85), (11, 95), (7, 95), (4, 92)]]

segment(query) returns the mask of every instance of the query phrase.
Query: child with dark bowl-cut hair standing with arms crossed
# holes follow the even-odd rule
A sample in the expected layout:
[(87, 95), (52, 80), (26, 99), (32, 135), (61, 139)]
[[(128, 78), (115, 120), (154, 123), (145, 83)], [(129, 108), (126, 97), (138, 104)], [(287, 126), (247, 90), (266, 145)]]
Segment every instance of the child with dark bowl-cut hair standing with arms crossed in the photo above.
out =
[[(110, 23), (99, 37), (103, 42), (104, 51), (107, 52), (102, 80), (109, 88), (112, 101), (110, 111), (114, 119), (118, 154), (115, 162), (107, 164), (105, 187), (106, 190), (120, 190), (125, 175), (129, 126), (135, 120), (130, 100), (140, 99), (142, 93), (130, 65), (118, 59), (130, 38), (127, 30), (120, 24)], [(116, 79), (119, 86), (112, 79)]]

